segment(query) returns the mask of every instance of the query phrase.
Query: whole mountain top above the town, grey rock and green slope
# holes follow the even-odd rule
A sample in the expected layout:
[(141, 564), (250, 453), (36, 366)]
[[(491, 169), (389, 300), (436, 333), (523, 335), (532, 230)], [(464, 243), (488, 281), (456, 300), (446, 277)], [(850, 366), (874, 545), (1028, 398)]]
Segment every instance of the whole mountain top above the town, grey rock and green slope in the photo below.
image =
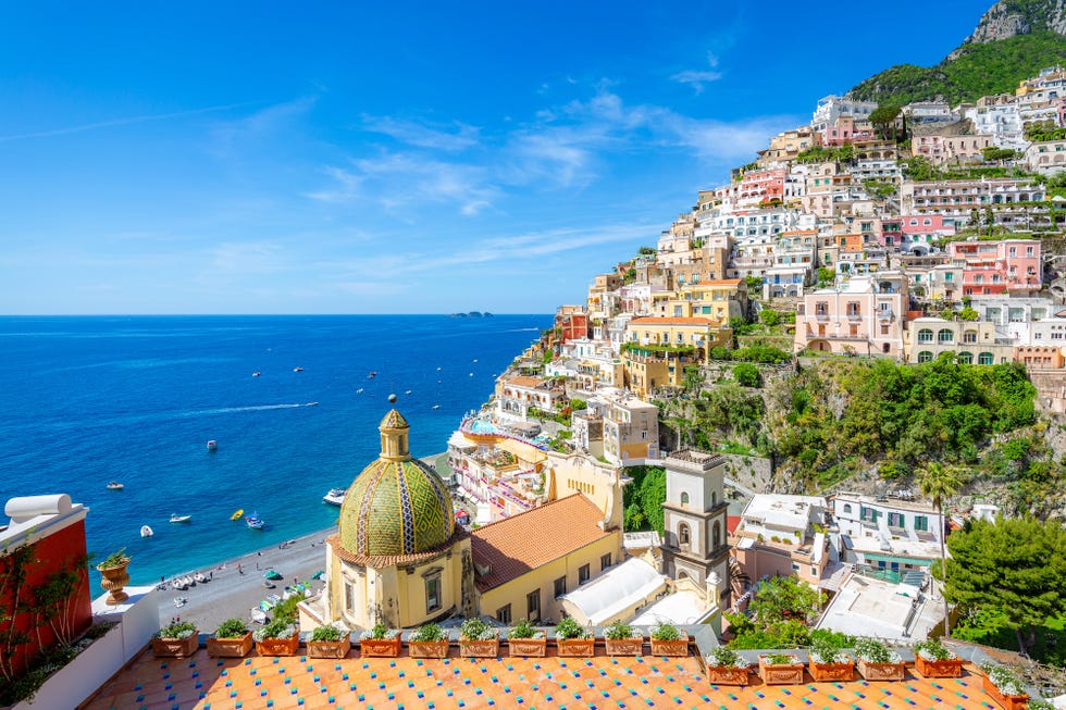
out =
[(900, 64), (862, 82), (852, 96), (881, 103), (943, 98), (952, 104), (1014, 91), (1018, 82), (1066, 64), (1066, 0), (1004, 0), (935, 66)]

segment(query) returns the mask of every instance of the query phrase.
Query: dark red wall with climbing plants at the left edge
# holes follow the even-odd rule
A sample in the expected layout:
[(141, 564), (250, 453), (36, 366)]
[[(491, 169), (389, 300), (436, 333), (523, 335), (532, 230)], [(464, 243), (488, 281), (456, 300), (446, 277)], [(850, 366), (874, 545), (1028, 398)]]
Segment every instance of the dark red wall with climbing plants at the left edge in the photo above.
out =
[[(28, 588), (37, 584), (45, 582), (48, 576), (54, 572), (59, 572), (64, 569), (70, 569), (72, 565), (76, 564), (78, 560), (85, 558), (86, 547), (85, 547), (85, 521), (79, 520), (78, 522), (58, 531), (41, 540), (36, 543), (36, 558), (38, 562), (30, 562), (27, 565), (27, 578), (23, 586), (26, 593), (23, 594), (22, 598), (24, 600), (28, 599)], [(7, 565), (9, 560), (7, 558), (0, 558), (0, 574), (7, 571)], [(76, 637), (92, 623), (92, 600), (89, 596), (89, 578), (88, 570), (83, 564), (79, 568), (80, 583), (75, 588), (72, 595), (72, 601), (69, 606), (69, 622), (70, 628), (72, 630), (71, 635)], [(4, 590), (3, 597), (0, 597), (0, 607), (4, 609), (11, 608), (11, 593)], [(0, 626), (3, 630), (9, 628), (8, 624), (12, 622), (3, 622)], [(34, 657), (40, 651), (41, 648), (51, 648), (55, 645), (55, 636), (52, 630), (46, 623), (40, 627), (40, 644), (37, 642), (38, 631), (32, 628), (34, 623), (34, 614), (28, 612), (22, 612), (15, 615), (14, 622), (15, 627), (27, 632), (33, 639), (29, 644), (23, 646), (17, 646), (12, 658), (12, 663), (15, 672), (26, 668), (28, 662), (33, 660)]]

